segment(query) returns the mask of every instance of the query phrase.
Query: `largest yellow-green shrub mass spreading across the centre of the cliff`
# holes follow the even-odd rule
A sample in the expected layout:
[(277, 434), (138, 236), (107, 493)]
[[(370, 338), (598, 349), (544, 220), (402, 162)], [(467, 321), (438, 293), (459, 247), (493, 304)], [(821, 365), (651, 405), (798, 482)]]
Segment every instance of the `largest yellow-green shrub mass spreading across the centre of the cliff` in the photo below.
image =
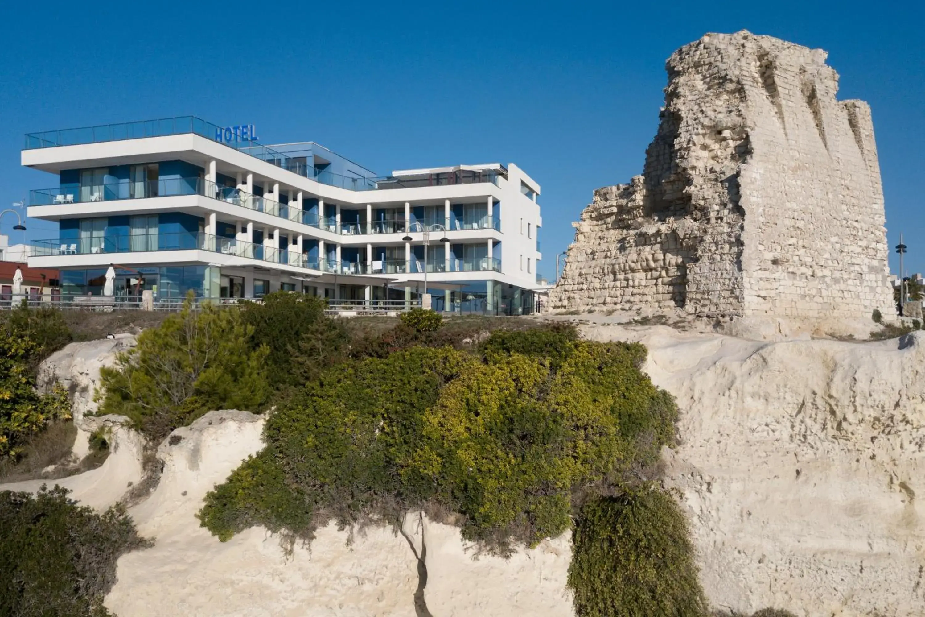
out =
[(519, 336), (484, 361), (415, 346), (327, 371), (271, 414), (265, 450), (207, 496), (203, 525), (308, 538), (330, 518), (434, 507), (501, 553), (561, 534), (586, 494), (658, 459), (676, 411), (638, 370), (640, 345)]

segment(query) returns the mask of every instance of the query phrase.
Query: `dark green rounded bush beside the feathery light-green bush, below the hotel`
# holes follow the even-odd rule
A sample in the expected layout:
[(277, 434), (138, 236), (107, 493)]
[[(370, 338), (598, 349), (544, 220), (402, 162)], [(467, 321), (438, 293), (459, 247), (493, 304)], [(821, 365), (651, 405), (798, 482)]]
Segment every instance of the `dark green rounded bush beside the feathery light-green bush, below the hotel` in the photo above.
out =
[(253, 327), (251, 347), (265, 345), (271, 384), (303, 386), (343, 359), (350, 337), (342, 320), (325, 315), (327, 303), (314, 296), (276, 291), (263, 302), (244, 302), (241, 316)]

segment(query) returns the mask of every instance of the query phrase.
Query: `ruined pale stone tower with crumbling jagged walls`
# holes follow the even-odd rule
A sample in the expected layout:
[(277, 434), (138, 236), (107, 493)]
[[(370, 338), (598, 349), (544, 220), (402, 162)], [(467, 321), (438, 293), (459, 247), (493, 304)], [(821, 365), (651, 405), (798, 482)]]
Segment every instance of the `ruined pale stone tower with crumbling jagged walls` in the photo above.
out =
[(894, 315), (870, 106), (826, 56), (747, 31), (672, 54), (643, 175), (594, 191), (552, 308)]

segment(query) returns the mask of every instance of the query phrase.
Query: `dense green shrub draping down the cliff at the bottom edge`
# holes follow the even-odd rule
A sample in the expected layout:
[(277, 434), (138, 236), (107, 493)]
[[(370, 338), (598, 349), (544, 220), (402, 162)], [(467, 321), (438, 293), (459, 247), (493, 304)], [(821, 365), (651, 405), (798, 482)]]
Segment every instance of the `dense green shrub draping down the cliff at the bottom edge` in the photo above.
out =
[(685, 515), (655, 487), (589, 501), (575, 524), (568, 584), (576, 617), (702, 617)]

